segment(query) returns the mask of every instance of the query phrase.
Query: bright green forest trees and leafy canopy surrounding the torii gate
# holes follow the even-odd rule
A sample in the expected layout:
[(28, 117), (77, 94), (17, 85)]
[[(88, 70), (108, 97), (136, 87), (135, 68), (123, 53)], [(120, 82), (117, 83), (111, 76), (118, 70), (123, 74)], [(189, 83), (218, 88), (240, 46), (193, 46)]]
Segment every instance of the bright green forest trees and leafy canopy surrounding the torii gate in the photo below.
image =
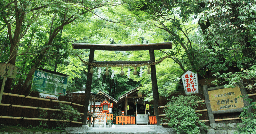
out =
[[(170, 55), (156, 65), (159, 94), (163, 97), (182, 91), (179, 77), (188, 69), (201, 76), (205, 73), (202, 67), (220, 74), (233, 66), (242, 74), (244, 70), (253, 71), (255, 13), (255, 0), (2, 0), (0, 63), (19, 67), (16, 79), (7, 79), (4, 92), (30, 91), (37, 67), (69, 75), (67, 92), (79, 91), (88, 72), (76, 54), (88, 61), (89, 50), (72, 49), (72, 43), (171, 41), (172, 49), (155, 50), (156, 60)], [(95, 51), (94, 60), (149, 60), (149, 53)], [(106, 68), (101, 68), (100, 78), (96, 73), (99, 67), (93, 69), (92, 92), (102, 90), (117, 99), (141, 84), (147, 100), (153, 99), (146, 66), (142, 67), (143, 77), (130, 78), (128, 68), (124, 68), (124, 76), (119, 75), (121, 67), (109, 68), (110, 73), (115, 72), (113, 79), (104, 75)]]

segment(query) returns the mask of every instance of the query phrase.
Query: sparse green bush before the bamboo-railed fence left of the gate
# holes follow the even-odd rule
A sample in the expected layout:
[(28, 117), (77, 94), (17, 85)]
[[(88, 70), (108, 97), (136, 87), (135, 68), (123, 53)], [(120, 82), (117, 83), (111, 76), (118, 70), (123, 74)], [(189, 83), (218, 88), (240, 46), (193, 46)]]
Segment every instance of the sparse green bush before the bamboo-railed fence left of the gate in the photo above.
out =
[[(78, 113), (76, 108), (64, 103), (59, 103), (59, 106), (54, 106), (57, 109), (60, 109), (59, 112), (51, 114), (52, 119), (57, 120), (67, 120), (67, 121), (77, 121), (81, 119), (81, 115)], [(70, 125), (70, 122), (60, 122), (57, 121), (57, 129), (65, 129)]]

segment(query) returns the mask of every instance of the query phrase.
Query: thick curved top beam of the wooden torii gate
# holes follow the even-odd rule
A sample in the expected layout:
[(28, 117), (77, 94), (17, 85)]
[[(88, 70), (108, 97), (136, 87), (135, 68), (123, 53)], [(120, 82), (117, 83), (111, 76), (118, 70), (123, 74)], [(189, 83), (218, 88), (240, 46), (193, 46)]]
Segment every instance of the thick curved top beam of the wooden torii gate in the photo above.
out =
[(73, 43), (73, 49), (94, 49), (107, 51), (140, 51), (140, 50), (161, 50), (172, 49), (172, 42), (148, 43), (148, 44), (90, 44)]

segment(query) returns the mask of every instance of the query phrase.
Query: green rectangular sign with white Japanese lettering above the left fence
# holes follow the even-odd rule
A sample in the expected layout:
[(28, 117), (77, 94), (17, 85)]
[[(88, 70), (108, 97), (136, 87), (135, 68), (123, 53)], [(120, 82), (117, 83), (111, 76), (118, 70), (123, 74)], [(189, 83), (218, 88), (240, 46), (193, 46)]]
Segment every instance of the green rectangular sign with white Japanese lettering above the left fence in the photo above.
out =
[(36, 70), (31, 90), (52, 95), (66, 95), (68, 77)]

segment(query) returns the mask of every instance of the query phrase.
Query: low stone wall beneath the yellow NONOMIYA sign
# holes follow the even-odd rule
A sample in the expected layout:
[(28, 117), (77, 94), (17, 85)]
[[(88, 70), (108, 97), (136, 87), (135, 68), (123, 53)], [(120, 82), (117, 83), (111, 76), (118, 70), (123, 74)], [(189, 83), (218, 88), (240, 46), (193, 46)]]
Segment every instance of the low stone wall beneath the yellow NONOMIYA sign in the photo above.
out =
[(236, 129), (236, 123), (212, 123), (208, 126), (208, 129), (204, 128), (200, 130), (201, 134), (235, 134), (239, 133)]

